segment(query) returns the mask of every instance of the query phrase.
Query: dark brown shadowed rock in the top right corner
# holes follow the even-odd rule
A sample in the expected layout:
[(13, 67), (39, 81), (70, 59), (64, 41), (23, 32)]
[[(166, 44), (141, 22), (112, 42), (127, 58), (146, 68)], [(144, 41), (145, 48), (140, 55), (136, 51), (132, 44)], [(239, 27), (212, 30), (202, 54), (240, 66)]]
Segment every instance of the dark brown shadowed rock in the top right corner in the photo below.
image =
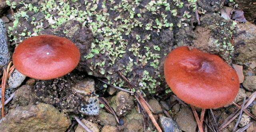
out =
[(246, 20), (250, 22), (256, 21), (256, 1), (255, 0), (234, 0), (239, 8), (241, 8), (244, 11), (244, 16), (246, 17)]

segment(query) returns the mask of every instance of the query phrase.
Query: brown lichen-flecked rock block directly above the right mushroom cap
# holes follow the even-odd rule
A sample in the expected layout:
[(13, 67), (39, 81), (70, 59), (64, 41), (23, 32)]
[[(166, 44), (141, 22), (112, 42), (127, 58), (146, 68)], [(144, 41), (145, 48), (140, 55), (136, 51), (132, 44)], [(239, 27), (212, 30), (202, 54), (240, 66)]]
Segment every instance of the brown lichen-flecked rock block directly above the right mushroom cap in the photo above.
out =
[(230, 54), (233, 49), (230, 44), (232, 34), (236, 31), (232, 26), (232, 20), (224, 20), (217, 14), (206, 14), (200, 18), (201, 26), (196, 26), (196, 39), (191, 46), (204, 52), (217, 54), (227, 62), (230, 62)]

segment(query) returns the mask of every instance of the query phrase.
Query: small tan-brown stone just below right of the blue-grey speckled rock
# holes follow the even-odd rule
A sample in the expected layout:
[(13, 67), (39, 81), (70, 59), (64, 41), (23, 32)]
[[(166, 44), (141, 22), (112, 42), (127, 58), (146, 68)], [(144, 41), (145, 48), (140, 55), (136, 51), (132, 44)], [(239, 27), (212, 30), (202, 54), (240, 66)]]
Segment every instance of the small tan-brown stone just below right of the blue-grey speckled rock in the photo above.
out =
[(98, 115), (97, 121), (103, 126), (104, 125), (110, 125), (110, 126), (117, 125), (115, 117), (112, 114), (104, 112), (103, 110), (100, 110), (100, 114)]

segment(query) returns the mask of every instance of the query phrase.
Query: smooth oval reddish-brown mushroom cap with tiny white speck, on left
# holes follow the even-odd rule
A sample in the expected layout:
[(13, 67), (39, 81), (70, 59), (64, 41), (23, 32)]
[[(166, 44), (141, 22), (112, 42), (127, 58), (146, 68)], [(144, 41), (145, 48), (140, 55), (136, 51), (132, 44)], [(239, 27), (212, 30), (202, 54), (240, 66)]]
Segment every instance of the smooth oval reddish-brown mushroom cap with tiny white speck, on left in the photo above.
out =
[(15, 68), (39, 80), (68, 74), (80, 60), (78, 48), (70, 40), (53, 35), (40, 35), (21, 42), (12, 56)]

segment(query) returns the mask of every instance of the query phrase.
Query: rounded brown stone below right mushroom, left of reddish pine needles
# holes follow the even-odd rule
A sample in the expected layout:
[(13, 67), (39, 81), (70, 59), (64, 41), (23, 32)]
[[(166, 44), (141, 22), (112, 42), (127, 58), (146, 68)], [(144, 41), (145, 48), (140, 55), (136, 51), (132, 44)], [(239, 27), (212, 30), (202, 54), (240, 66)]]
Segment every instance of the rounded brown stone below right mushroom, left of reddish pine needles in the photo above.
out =
[(192, 111), (188, 107), (183, 106), (175, 118), (182, 131), (196, 132), (197, 124)]

